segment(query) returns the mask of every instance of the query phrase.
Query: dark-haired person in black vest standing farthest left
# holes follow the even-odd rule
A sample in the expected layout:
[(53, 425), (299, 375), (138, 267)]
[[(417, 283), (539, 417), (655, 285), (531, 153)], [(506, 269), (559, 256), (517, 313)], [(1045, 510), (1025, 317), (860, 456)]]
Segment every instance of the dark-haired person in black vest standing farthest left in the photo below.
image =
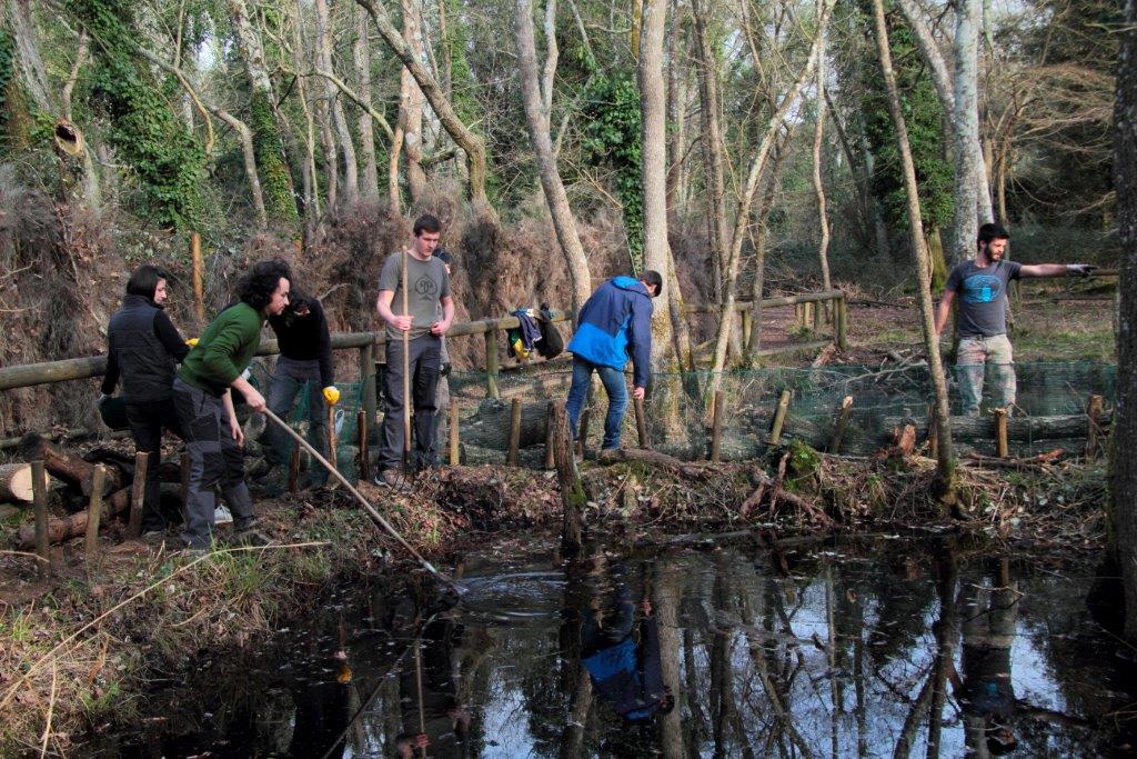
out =
[(119, 380), (126, 421), (134, 445), (148, 456), (146, 496), (142, 502), (142, 534), (165, 533), (167, 522), (159, 511), (158, 470), (161, 434), (169, 430), (184, 437), (174, 410), (174, 372), (190, 352), (165, 312), (169, 275), (147, 264), (126, 282), (122, 307), (107, 328), (107, 373), (102, 378), (100, 403), (109, 398)]

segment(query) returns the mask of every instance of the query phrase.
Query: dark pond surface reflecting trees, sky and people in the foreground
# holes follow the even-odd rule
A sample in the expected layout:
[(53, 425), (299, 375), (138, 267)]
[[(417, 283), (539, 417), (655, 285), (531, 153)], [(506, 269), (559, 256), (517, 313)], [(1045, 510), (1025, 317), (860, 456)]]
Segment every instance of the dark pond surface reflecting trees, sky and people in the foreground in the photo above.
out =
[[(1114, 644), (1093, 578), (951, 545), (771, 561), (472, 559), (470, 607), (376, 588), (147, 706), (128, 756), (1110, 756)], [(164, 719), (155, 719), (161, 716)], [(1107, 719), (1106, 717), (1110, 716)]]

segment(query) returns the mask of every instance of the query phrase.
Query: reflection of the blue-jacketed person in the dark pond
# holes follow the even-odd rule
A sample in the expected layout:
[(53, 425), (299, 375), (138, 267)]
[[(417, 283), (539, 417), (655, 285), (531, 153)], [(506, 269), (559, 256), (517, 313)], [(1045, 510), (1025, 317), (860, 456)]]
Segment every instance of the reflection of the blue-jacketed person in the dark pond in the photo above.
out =
[(636, 604), (626, 583), (619, 579), (608, 603), (591, 603), (581, 620), (581, 663), (595, 692), (628, 720), (665, 715), (675, 699), (663, 683), (659, 662), (659, 625), (652, 603), (640, 604), (644, 619), (636, 625)]

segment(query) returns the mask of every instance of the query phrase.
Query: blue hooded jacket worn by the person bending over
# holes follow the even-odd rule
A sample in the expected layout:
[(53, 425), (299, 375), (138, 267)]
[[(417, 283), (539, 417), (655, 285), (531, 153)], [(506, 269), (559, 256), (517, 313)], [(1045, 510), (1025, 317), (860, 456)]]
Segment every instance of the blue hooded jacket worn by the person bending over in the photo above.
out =
[(614, 277), (580, 310), (568, 352), (594, 364), (623, 369), (631, 355), (633, 385), (647, 387), (652, 365), (652, 296), (633, 277)]

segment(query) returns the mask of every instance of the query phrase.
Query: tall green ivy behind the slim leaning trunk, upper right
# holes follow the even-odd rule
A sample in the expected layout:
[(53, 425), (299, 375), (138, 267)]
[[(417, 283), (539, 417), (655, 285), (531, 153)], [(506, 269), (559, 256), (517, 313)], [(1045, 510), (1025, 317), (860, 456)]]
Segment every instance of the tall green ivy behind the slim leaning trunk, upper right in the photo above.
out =
[[(891, 3), (887, 3), (886, 8)], [(946, 229), (952, 223), (955, 205), (952, 196), (954, 173), (947, 162), (947, 145), (944, 139), (944, 110), (931, 77), (924, 69), (912, 30), (894, 8), (888, 10), (888, 40), (896, 69), (896, 84), (901, 93), (901, 108), (908, 129), (916, 183), (920, 188), (923, 231)], [(870, 23), (871, 18), (865, 15), (866, 31), (871, 31)], [(877, 61), (871, 61), (865, 67), (864, 80), (865, 137), (870, 150), (877, 156), (872, 175), (873, 188), (877, 197), (885, 200), (883, 213), (889, 228), (906, 230), (908, 218), (905, 211), (901, 157), (896, 147), (896, 129), (888, 113), (885, 80)]]

